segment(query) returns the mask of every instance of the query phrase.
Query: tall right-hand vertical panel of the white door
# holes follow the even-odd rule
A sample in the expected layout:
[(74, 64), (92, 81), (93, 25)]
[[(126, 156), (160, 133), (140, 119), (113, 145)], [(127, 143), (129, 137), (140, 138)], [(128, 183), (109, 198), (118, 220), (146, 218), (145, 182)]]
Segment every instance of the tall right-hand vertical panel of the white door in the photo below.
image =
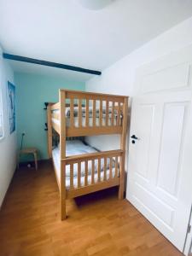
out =
[(171, 195), (177, 193), (178, 172), (182, 157), (186, 104), (166, 103), (160, 145), (157, 186)]

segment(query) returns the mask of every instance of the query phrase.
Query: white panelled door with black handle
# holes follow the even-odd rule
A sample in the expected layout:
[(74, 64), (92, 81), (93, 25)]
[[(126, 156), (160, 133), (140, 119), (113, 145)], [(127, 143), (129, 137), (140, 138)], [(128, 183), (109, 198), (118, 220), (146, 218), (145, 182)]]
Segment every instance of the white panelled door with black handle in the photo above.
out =
[[(161, 70), (162, 78), (156, 71), (145, 77), (147, 90), (162, 88), (166, 77), (173, 88), (182, 77), (178, 67)], [(183, 251), (192, 202), (192, 90), (172, 88), (133, 98), (130, 135), (137, 138), (130, 138), (126, 198)]]

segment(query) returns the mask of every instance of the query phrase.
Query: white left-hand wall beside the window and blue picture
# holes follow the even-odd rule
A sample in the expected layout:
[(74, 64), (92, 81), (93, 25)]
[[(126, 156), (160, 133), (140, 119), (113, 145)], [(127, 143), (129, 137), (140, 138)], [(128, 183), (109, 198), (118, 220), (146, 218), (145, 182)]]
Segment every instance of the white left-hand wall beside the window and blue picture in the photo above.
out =
[(0, 46), (0, 90), (3, 93), (4, 137), (0, 140), (0, 207), (16, 166), (16, 132), (9, 135), (9, 117), (7, 108), (7, 82), (14, 83), (14, 73), (3, 60)]

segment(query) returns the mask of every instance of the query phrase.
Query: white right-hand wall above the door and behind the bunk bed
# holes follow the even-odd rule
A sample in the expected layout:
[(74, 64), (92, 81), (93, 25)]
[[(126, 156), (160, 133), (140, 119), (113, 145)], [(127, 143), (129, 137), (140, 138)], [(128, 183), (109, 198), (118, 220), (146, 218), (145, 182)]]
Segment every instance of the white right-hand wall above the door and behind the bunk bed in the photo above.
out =
[[(101, 77), (90, 79), (86, 83), (86, 90), (134, 96), (137, 67), (189, 44), (192, 44), (192, 17), (154, 38), (148, 44), (144, 44), (130, 55), (126, 55), (113, 66), (102, 71)], [(117, 148), (116, 145), (119, 143), (117, 137), (102, 137), (102, 139), (89, 137), (87, 142), (101, 150)]]

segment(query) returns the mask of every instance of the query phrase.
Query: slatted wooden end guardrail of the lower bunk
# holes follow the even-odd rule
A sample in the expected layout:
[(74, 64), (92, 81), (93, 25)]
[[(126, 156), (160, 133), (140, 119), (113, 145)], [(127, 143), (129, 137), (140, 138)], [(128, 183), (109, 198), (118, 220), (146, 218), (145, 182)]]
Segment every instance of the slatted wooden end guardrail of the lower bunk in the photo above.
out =
[[(106, 188), (106, 184), (108, 188), (119, 185), (121, 177), (119, 163), (121, 162), (122, 154), (123, 151), (119, 149), (90, 154), (80, 154), (62, 159), (66, 166), (70, 166), (70, 188), (67, 189), (67, 198), (83, 195), (85, 187), (87, 187), (89, 192), (91, 192), (100, 190), (103, 186)], [(74, 165), (78, 167), (77, 174), (74, 174)], [(84, 181), (82, 184), (81, 169), (83, 165)], [(65, 172), (65, 170), (63, 170), (63, 172)], [(74, 175), (77, 177), (77, 184), (75, 185)], [(65, 173), (64, 177), (66, 177)]]

